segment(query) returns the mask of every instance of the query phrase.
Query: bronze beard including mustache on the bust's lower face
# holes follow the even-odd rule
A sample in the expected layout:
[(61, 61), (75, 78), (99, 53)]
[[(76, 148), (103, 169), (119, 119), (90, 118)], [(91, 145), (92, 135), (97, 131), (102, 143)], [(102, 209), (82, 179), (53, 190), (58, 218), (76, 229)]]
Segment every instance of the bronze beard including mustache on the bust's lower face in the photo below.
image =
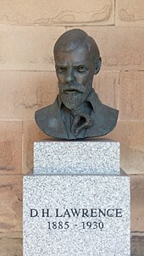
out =
[(58, 84), (59, 97), (67, 109), (76, 109), (86, 101), (86, 97), (91, 92), (89, 86), (80, 85), (77, 82), (68, 85)]

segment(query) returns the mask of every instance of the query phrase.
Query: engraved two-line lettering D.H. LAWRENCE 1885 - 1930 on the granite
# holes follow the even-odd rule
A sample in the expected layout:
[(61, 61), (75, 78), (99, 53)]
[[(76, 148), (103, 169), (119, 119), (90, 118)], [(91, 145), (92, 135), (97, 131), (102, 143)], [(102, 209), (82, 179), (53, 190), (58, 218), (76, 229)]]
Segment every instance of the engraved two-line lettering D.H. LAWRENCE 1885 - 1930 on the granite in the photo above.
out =
[[(121, 208), (71, 208), (71, 209), (30, 209), (30, 218), (45, 218), (47, 230), (100, 230), (104, 229), (104, 222), (112, 218), (122, 218)], [(73, 219), (73, 221), (72, 221)]]

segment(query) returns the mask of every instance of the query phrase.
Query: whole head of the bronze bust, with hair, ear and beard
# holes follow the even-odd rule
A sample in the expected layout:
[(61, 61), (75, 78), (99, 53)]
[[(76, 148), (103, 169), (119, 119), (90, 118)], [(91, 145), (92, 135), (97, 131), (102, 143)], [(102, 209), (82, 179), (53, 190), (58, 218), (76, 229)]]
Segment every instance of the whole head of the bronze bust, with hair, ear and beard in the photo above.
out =
[(97, 44), (85, 31), (67, 31), (55, 43), (54, 59), (59, 97), (66, 108), (75, 109), (85, 102), (101, 68)]

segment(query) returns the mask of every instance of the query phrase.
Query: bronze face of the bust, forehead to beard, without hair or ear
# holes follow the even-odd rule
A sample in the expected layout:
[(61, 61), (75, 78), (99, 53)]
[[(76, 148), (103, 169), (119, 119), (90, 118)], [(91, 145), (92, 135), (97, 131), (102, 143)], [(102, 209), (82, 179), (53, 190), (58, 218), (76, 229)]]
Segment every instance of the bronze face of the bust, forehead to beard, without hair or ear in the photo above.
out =
[(95, 64), (86, 47), (73, 52), (58, 51), (55, 56), (59, 96), (68, 109), (84, 103), (91, 92)]

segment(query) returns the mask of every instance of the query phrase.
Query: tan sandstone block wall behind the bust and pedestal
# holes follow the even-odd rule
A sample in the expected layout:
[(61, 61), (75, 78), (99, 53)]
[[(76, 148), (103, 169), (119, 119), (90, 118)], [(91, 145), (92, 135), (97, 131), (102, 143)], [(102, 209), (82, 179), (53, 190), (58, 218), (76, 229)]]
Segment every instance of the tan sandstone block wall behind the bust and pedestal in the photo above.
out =
[(33, 142), (46, 138), (36, 109), (53, 103), (53, 45), (80, 27), (102, 53), (94, 88), (119, 109), (106, 136), (121, 143), (131, 180), (131, 231), (144, 232), (143, 0), (0, 0), (0, 256), (22, 255), (22, 176), (32, 169)]

